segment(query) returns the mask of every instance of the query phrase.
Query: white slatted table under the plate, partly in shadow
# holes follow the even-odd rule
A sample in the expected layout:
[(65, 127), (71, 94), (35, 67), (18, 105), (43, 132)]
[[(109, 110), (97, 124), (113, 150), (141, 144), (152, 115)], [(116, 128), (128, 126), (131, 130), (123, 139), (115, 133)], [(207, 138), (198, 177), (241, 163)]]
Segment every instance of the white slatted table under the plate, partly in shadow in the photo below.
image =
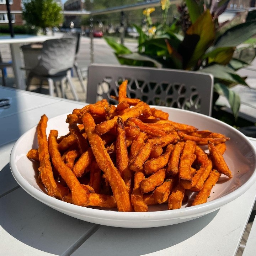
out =
[[(9, 109), (0, 109), (0, 256), (236, 254), (255, 202), (256, 184), (213, 213), (171, 226), (125, 229), (69, 217), (19, 187), (11, 175), (9, 157), (15, 141), (42, 114), (51, 118), (81, 108), (82, 103), (2, 88), (0, 98), (11, 100)], [(256, 146), (256, 140), (251, 141)], [(253, 244), (246, 245), (246, 255), (255, 255)]]

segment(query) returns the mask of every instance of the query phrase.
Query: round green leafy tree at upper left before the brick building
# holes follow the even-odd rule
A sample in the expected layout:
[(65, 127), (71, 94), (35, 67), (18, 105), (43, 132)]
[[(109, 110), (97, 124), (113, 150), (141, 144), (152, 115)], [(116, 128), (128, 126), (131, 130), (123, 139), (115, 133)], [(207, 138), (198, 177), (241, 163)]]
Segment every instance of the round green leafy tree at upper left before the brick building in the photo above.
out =
[(59, 26), (63, 22), (62, 8), (54, 0), (27, 0), (24, 2), (22, 17), (32, 26), (42, 28)]

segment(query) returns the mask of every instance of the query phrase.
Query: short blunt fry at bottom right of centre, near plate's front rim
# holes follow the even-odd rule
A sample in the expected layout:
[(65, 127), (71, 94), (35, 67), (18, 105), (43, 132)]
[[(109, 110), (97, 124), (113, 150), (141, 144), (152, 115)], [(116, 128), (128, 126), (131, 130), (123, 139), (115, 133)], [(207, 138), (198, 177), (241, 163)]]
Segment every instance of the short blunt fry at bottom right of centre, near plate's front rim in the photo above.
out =
[(176, 182), (177, 179), (170, 178), (165, 180), (165, 182), (162, 183), (162, 185), (157, 187), (153, 193), (155, 201), (158, 202), (159, 204), (166, 202)]

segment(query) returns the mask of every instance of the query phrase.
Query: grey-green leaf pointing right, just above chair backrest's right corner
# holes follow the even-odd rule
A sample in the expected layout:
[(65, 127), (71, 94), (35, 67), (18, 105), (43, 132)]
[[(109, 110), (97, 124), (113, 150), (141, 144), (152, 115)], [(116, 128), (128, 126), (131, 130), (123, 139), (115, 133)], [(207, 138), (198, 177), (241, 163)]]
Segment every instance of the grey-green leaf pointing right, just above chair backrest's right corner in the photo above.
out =
[(237, 84), (247, 85), (244, 79), (242, 79), (238, 74), (235, 73), (233, 69), (229, 68), (228, 66), (214, 64), (200, 69), (200, 72), (210, 73), (214, 76), (214, 78), (218, 78), (230, 83), (235, 82)]

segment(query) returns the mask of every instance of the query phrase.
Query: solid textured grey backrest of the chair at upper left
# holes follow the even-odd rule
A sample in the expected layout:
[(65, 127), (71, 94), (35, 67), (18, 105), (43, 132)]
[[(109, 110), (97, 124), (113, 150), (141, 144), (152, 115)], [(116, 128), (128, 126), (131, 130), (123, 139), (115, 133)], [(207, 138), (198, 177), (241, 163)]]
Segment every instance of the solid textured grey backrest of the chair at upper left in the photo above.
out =
[(39, 63), (31, 71), (38, 75), (58, 75), (71, 69), (75, 61), (76, 41), (75, 37), (46, 40)]

